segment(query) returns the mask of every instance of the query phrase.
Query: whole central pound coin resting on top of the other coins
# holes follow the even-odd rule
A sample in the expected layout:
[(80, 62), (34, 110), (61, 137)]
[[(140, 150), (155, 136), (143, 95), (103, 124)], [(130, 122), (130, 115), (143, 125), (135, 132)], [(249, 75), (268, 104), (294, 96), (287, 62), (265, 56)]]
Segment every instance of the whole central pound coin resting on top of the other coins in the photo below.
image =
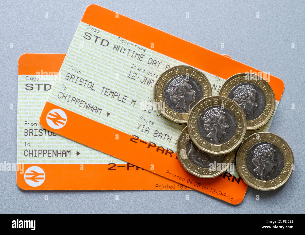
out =
[(188, 117), (188, 132), (196, 146), (213, 155), (233, 151), (244, 139), (247, 122), (233, 100), (210, 96), (200, 100)]

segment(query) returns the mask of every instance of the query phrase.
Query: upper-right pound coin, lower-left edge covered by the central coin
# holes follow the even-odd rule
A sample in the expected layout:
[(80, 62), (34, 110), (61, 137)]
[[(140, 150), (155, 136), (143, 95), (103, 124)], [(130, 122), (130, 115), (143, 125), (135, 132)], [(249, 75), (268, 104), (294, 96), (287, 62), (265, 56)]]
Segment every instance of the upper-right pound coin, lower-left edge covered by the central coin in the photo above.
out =
[(269, 83), (252, 73), (238, 73), (228, 78), (218, 95), (234, 100), (242, 108), (247, 130), (265, 125), (275, 109), (275, 96)]

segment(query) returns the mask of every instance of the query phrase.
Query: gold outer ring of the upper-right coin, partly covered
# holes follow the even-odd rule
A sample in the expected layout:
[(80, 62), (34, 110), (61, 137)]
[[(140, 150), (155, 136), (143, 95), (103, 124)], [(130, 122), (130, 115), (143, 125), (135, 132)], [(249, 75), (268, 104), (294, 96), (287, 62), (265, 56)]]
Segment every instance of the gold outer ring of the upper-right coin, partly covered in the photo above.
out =
[[(256, 79), (250, 79), (253, 77)], [(234, 86), (244, 82), (252, 83), (258, 86), (262, 90), (266, 98), (266, 106), (262, 114), (256, 119), (247, 121), (247, 131), (252, 131), (265, 125), (272, 117), (272, 114), (275, 109), (275, 95), (271, 86), (265, 79), (252, 73), (238, 73), (231, 76), (221, 86), (218, 95), (228, 97), (231, 89)]]

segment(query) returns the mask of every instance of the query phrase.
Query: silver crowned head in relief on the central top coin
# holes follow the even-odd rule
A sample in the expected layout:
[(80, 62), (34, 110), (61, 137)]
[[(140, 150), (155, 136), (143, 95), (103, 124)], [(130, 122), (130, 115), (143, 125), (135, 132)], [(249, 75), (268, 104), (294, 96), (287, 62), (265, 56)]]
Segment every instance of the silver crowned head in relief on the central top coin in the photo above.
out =
[(216, 144), (221, 144), (221, 137), (228, 135), (230, 128), (226, 113), (219, 107), (216, 107), (207, 111), (201, 119), (204, 123), (204, 130), (209, 133), (206, 135), (206, 138), (213, 140)]

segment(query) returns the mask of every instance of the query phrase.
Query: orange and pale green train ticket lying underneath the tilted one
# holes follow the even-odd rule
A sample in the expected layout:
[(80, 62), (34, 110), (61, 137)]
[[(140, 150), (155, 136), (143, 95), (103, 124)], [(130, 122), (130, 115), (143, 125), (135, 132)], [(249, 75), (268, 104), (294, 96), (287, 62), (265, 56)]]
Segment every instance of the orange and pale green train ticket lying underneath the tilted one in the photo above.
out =
[(18, 186), (24, 190), (190, 189), (39, 125), (41, 110), (65, 55), (23, 54), (19, 58)]

